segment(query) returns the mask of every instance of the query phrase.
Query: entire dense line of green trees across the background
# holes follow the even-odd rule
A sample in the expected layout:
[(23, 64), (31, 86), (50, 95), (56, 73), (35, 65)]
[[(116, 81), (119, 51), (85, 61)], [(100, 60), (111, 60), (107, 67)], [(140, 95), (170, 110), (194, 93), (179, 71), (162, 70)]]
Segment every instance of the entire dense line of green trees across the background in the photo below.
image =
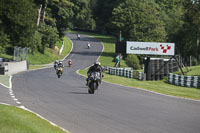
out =
[(199, 58), (199, 19), (199, 0), (0, 0), (0, 52), (21, 46), (42, 53), (77, 27), (175, 42), (177, 54)]

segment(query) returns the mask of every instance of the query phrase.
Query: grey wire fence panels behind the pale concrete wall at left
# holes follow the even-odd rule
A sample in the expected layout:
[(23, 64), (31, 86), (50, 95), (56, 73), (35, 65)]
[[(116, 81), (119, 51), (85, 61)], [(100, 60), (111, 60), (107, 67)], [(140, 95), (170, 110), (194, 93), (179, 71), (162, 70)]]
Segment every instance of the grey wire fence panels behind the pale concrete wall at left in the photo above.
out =
[(28, 48), (15, 47), (14, 48), (14, 61), (26, 60), (28, 56)]

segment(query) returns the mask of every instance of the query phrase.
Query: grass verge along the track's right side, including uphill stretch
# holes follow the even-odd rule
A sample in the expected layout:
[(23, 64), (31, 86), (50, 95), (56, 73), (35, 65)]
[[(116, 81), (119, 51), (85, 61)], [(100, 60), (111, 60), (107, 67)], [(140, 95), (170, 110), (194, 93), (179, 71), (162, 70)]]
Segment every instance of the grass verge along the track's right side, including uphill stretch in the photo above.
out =
[[(91, 34), (87, 32), (74, 32), (74, 33), (86, 34), (86, 35), (90, 35), (99, 39), (104, 44), (104, 52), (102, 53), (102, 56), (100, 57), (99, 61), (104, 66), (114, 66), (113, 59), (116, 56), (116, 53), (115, 53), (116, 40), (114, 37)], [(121, 64), (122, 64), (121, 67), (127, 67), (124, 61)], [(186, 75), (200, 75), (199, 74), (200, 66), (191, 67), (189, 69), (191, 69), (192, 71), (186, 73)], [(79, 70), (79, 73), (85, 76), (86, 76), (86, 72), (87, 70), (85, 69)], [(129, 79), (129, 78), (109, 75), (108, 73), (105, 73), (105, 77), (103, 78), (103, 80), (107, 82), (115, 83), (115, 84), (121, 84), (125, 86), (134, 87), (134, 88), (142, 88), (142, 89), (146, 89), (146, 90), (150, 90), (150, 91), (154, 91), (154, 92), (158, 92), (162, 94), (200, 100), (200, 89), (171, 85), (167, 83), (166, 79), (161, 80), (161, 81), (139, 81), (136, 79)]]

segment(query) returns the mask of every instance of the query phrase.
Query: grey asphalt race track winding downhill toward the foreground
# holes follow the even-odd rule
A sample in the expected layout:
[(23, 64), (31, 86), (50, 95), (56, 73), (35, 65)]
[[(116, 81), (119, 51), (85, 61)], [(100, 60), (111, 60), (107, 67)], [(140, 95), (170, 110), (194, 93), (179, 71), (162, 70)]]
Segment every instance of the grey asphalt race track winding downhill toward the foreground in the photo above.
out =
[[(199, 133), (200, 102), (103, 82), (88, 94), (78, 69), (101, 54), (94, 38), (67, 34), (73, 41), (71, 68), (58, 79), (53, 68), (13, 76), (13, 91), (26, 108), (72, 133)], [(87, 42), (91, 49), (87, 49)], [(1, 87), (2, 88), (2, 87)]]

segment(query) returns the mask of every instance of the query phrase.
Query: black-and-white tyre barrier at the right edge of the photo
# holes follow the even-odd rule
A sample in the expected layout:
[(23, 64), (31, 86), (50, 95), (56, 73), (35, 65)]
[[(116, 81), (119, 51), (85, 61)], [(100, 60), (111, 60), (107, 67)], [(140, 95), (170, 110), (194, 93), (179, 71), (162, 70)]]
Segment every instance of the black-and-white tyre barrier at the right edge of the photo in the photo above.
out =
[(200, 88), (200, 76), (184, 76), (169, 73), (168, 82), (178, 86), (195, 87)]

